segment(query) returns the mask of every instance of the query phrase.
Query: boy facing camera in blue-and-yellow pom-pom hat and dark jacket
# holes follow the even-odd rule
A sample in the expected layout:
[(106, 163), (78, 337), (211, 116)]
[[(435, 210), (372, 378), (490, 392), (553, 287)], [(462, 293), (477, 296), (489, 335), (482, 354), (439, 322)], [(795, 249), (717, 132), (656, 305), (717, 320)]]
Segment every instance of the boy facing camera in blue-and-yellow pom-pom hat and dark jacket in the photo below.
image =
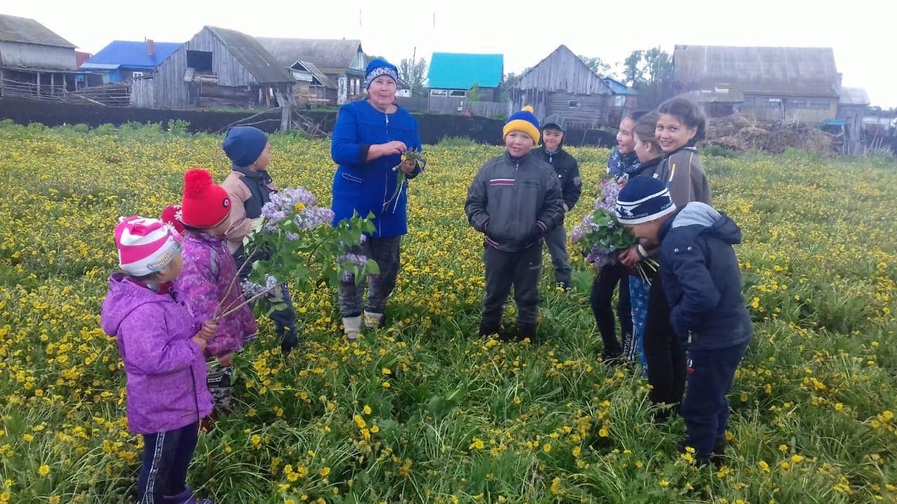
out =
[(542, 239), (563, 221), (561, 184), (554, 169), (532, 152), (539, 121), (525, 107), (503, 134), (507, 152), (492, 158), (467, 189), (465, 211), (485, 235), (486, 293), (480, 335), (497, 334), (511, 286), (518, 308), (518, 339), (536, 336)]

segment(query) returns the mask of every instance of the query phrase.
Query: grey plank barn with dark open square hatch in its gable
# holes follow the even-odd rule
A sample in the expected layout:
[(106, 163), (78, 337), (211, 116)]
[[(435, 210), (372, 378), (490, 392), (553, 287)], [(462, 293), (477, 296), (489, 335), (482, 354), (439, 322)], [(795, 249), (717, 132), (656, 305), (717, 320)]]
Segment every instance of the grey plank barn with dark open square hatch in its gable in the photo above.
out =
[(292, 104), (295, 83), (253, 37), (206, 26), (135, 79), (132, 102), (158, 109), (266, 108)]

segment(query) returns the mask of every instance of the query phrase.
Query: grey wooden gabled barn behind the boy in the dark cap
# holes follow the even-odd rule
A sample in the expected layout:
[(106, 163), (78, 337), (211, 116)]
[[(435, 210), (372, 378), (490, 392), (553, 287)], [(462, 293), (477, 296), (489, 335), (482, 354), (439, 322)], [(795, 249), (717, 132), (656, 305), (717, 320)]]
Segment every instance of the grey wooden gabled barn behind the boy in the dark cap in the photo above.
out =
[(605, 126), (614, 103), (610, 86), (567, 46), (521, 75), (508, 93), (511, 110), (531, 105), (539, 120), (558, 114), (578, 129)]

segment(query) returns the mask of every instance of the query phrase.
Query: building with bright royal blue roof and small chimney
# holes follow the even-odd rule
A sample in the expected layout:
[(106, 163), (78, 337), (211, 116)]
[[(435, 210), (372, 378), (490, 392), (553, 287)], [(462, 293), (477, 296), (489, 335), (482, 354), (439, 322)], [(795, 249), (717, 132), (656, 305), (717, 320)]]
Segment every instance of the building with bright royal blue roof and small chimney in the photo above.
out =
[(122, 83), (150, 74), (184, 44), (115, 40), (81, 65), (88, 85)]

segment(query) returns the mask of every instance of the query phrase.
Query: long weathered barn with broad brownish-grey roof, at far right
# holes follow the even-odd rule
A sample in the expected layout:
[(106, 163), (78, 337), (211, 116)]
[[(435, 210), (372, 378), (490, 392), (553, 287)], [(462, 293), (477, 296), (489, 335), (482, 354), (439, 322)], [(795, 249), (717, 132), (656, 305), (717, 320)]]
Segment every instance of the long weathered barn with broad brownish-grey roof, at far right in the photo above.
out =
[(710, 117), (740, 111), (761, 121), (822, 123), (838, 115), (840, 74), (831, 48), (676, 46), (674, 91)]

